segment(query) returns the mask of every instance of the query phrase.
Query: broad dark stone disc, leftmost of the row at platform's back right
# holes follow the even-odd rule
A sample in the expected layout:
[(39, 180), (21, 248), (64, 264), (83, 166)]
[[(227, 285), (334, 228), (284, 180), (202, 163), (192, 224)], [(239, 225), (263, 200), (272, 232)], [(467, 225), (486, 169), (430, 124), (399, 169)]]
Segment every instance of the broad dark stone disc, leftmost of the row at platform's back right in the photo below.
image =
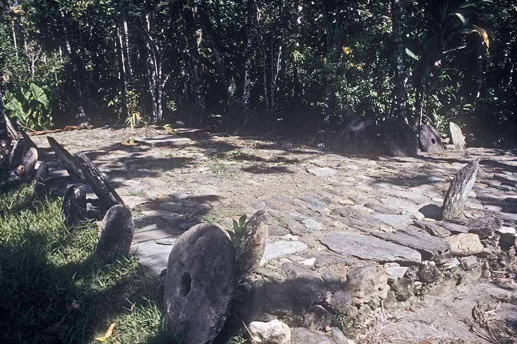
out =
[(368, 117), (352, 116), (339, 130), (332, 143), (333, 148), (347, 154), (366, 154), (372, 150), (379, 130), (375, 121)]

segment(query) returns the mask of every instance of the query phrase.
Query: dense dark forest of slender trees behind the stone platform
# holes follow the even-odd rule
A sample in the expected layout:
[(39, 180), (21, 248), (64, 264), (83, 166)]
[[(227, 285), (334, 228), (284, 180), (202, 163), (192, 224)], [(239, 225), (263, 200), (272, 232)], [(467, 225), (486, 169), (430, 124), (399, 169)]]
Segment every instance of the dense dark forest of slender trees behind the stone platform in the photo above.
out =
[(517, 146), (514, 0), (0, 6), (3, 106), (37, 130), (220, 118), (283, 135), (364, 115), (441, 133), (452, 120), (470, 146)]

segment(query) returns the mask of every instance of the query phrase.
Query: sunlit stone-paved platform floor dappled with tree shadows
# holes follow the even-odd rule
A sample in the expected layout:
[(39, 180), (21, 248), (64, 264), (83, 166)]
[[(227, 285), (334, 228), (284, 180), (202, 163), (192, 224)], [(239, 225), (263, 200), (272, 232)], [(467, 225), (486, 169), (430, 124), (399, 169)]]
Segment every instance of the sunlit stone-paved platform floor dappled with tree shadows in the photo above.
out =
[[(280, 266), (293, 261), (310, 265), (318, 275), (342, 278), (372, 261), (417, 263), (428, 251), (388, 242), (383, 233), (409, 230), (427, 236), (426, 227), (414, 221), (436, 221), (454, 174), (473, 159), (481, 162), (463, 215), (497, 216), (505, 226), (517, 224), (516, 151), (468, 148), (417, 158), (365, 158), (292, 142), (177, 132), (192, 142), (123, 146), (132, 135), (128, 129), (51, 134), (71, 153), (85, 152), (133, 208), (132, 250), (156, 273), (166, 267), (175, 239), (191, 226), (211, 222), (230, 229), (233, 219), (258, 210), (266, 211), (270, 226), (258, 270), (264, 277), (285, 278)], [(34, 141), (47, 153), (51, 176), (66, 176), (47, 139)], [(369, 244), (356, 246), (357, 252), (351, 252), (353, 240), (347, 239), (348, 248), (339, 247), (343, 238), (361, 237)], [(393, 250), (396, 258), (388, 254)]]

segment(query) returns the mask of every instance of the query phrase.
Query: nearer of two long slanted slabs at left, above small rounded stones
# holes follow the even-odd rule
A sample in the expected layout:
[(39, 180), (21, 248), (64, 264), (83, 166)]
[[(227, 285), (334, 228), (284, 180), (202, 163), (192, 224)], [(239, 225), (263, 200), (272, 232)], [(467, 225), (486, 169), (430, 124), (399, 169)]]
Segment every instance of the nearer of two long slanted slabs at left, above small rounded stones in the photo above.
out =
[(116, 193), (110, 183), (102, 176), (97, 166), (82, 152), (73, 155), (73, 162), (81, 168), (84, 179), (88, 181), (104, 209), (114, 205), (126, 206), (124, 200)]

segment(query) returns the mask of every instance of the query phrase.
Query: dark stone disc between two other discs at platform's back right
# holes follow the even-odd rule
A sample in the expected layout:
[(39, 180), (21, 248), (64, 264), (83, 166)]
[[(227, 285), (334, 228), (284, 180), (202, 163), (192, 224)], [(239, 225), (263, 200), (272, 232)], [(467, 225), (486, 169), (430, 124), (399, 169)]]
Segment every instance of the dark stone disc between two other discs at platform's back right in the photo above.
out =
[(383, 138), (389, 155), (415, 157), (418, 154), (418, 138), (413, 129), (400, 119), (384, 122)]

